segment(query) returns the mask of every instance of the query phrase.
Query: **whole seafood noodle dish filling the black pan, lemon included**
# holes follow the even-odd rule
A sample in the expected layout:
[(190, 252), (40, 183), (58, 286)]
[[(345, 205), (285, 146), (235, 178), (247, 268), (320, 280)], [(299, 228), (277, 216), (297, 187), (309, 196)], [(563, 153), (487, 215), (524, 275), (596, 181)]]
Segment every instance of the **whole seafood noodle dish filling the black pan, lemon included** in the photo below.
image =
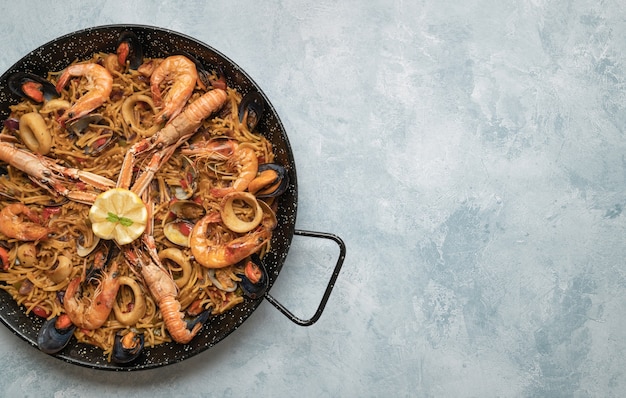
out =
[(8, 79), (0, 288), (45, 320), (42, 351), (128, 364), (263, 295), (289, 181), (256, 131), (259, 93), (192, 54), (146, 57), (131, 32), (115, 46)]

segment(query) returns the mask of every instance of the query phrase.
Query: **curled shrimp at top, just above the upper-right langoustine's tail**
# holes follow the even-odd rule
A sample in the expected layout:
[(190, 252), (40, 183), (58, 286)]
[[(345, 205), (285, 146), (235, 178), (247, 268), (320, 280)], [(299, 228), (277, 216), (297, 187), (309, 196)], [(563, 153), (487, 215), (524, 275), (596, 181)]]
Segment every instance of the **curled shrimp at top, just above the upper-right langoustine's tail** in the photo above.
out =
[[(157, 122), (170, 122), (183, 110), (198, 81), (196, 64), (183, 55), (172, 55), (161, 62), (150, 76), (150, 91), (156, 106), (162, 106), (155, 115)], [(165, 100), (162, 83), (172, 83)]]

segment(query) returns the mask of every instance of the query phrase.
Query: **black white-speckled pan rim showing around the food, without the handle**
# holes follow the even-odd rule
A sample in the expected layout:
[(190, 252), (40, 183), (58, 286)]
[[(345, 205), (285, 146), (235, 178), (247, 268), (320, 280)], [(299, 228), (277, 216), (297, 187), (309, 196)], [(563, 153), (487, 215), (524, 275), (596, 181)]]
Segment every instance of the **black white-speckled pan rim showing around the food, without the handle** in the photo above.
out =
[[(297, 182), (293, 154), (284, 127), (260, 87), (241, 68), (217, 50), (183, 34), (142, 25), (107, 25), (70, 33), (28, 53), (0, 77), (0, 117), (2, 120), (6, 119), (9, 115), (9, 105), (19, 101), (7, 87), (7, 79), (12, 73), (25, 71), (45, 76), (50, 70), (61, 70), (70, 62), (87, 59), (95, 52), (113, 53), (118, 36), (126, 30), (134, 32), (139, 37), (146, 57), (165, 57), (177, 51), (187, 51), (200, 60), (207, 69), (222, 71), (229, 86), (244, 94), (253, 90), (258, 91), (265, 98), (266, 112), (257, 130), (274, 145), (276, 161), (287, 168), (291, 184), (287, 192), (279, 197), (277, 212), (279, 223), (272, 238), (272, 251), (265, 258), (271, 288), (282, 268), (294, 235)], [(90, 368), (122, 371), (150, 369), (180, 362), (211, 348), (235, 331), (258, 307), (261, 300), (262, 298), (246, 299), (228, 313), (209, 319), (202, 331), (187, 345), (168, 343), (155, 348), (146, 348), (142, 356), (130, 365), (109, 363), (100, 349), (78, 344), (74, 339), (55, 357)], [(34, 315), (25, 315), (24, 308), (18, 306), (4, 290), (0, 290), (0, 320), (13, 333), (37, 349), (37, 333), (43, 320)]]

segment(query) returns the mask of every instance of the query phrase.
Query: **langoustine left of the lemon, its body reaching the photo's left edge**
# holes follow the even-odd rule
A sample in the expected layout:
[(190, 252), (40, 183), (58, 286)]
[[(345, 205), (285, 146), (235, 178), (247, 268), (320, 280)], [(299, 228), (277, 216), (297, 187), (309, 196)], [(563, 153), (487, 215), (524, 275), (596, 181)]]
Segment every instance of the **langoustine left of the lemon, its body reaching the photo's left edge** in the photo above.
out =
[(64, 186), (67, 179), (80, 180), (98, 189), (108, 189), (115, 183), (108, 178), (74, 168), (63, 167), (45, 156), (37, 156), (31, 152), (0, 142), (0, 161), (4, 161), (18, 170), (28, 174), (37, 185), (50, 193), (60, 194), (70, 200), (91, 204), (96, 198), (93, 192), (70, 190)]

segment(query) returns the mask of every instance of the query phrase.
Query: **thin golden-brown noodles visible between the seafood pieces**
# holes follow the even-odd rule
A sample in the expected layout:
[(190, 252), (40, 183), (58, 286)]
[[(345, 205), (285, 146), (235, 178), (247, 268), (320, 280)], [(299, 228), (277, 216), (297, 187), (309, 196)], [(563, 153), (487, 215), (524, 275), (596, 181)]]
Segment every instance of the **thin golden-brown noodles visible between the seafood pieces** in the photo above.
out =
[[(105, 64), (109, 54), (98, 53), (89, 61)], [(56, 83), (60, 72), (50, 72), (48, 80)], [(57, 112), (45, 112), (42, 105), (24, 100), (11, 106), (11, 118), (19, 119), (29, 112), (40, 112), (46, 121), (49, 131), (52, 132), (53, 145), (50, 153), (46, 156), (55, 159), (59, 164), (89, 171), (113, 181), (117, 181), (124, 155), (128, 148), (137, 141), (149, 136), (158, 130), (153, 125), (154, 110), (149, 106), (136, 106), (133, 110), (133, 118), (137, 123), (129, 125), (122, 118), (124, 101), (131, 95), (150, 96), (149, 79), (137, 71), (125, 70), (113, 72), (113, 91), (109, 100), (104, 105), (93, 111), (103, 118), (96, 124), (76, 136), (57, 122)], [(61, 99), (74, 103), (89, 90), (86, 79), (74, 78), (62, 92)], [(263, 162), (272, 162), (274, 154), (271, 143), (263, 136), (248, 131), (244, 123), (240, 123), (237, 117), (237, 106), (241, 101), (241, 95), (236, 90), (228, 88), (227, 103), (223, 106), (218, 116), (209, 118), (198, 129), (194, 140), (207, 140), (213, 137), (229, 137), (236, 140), (240, 145), (254, 148), (258, 159)], [(189, 102), (198, 98), (203, 91), (196, 87)], [(19, 140), (16, 131), (4, 127), (3, 135), (18, 137), (16, 146), (25, 149)], [(114, 139), (114, 145), (104, 149), (101, 153), (94, 152), (94, 147), (103, 142)], [(140, 157), (137, 162), (139, 169), (143, 169), (149, 160), (149, 156)], [(177, 150), (170, 160), (161, 167), (152, 184), (152, 199), (155, 202), (154, 231), (153, 235), (157, 249), (177, 247), (164, 235), (163, 228), (170, 217), (170, 203), (174, 200), (176, 187), (185, 185), (183, 181), (189, 179), (185, 174), (185, 166), (188, 158)], [(193, 196), (193, 201), (202, 204), (206, 211), (219, 208), (219, 198), (211, 195), (213, 187), (229, 186), (236, 178), (236, 170), (229, 165), (226, 159), (215, 160), (198, 156), (194, 158), (197, 168), (195, 181), (198, 189)], [(186, 163), (187, 162), (187, 163)], [(88, 255), (81, 257), (77, 252), (77, 243), (82, 247), (92, 246), (95, 242), (94, 235), (89, 224), (89, 205), (64, 200), (59, 195), (54, 195), (48, 190), (34, 184), (30, 178), (20, 170), (9, 166), (0, 165), (0, 170), (5, 168), (6, 173), (0, 176), (0, 209), (17, 202), (22, 202), (32, 209), (36, 209), (41, 217), (43, 225), (53, 231), (48, 238), (38, 242), (22, 242), (8, 238), (0, 233), (0, 246), (5, 247), (9, 253), (10, 268), (0, 272), (0, 288), (6, 290), (15, 301), (23, 306), (26, 313), (34, 312), (38, 316), (54, 318), (64, 313), (62, 294), (69, 282), (75, 277), (85, 277), (94, 265), (99, 250), (96, 249)], [(88, 189), (80, 182), (68, 182), (68, 188), (72, 190)], [(183, 187), (184, 188), (184, 187)], [(242, 203), (235, 204), (236, 212), (240, 217), (250, 216), (250, 209)], [(237, 236), (234, 232), (223, 226), (218, 226), (212, 231), (213, 236), (209, 239), (215, 242), (227, 242)], [(20, 247), (34, 245), (36, 261), (34, 264), (26, 264), (19, 258)], [(110, 245), (111, 247), (113, 245)], [(180, 247), (179, 247), (180, 248)], [(225, 292), (213, 286), (207, 277), (207, 269), (198, 264), (189, 248), (180, 248), (191, 259), (191, 276), (185, 286), (179, 289), (178, 300), (183, 310), (191, 306), (199, 309), (210, 309), (218, 314), (243, 301), (241, 290)], [(266, 251), (268, 247), (262, 248)], [(62, 280), (54, 282), (55, 267), (59, 264), (59, 256), (68, 257), (71, 260), (71, 271)], [(110, 356), (115, 333), (123, 329), (133, 329), (144, 333), (146, 346), (155, 346), (171, 341), (165, 328), (157, 303), (151, 297), (147, 288), (143, 285), (138, 273), (133, 272), (118, 250), (114, 258), (119, 264), (119, 275), (134, 278), (143, 288), (146, 299), (146, 313), (135, 325), (126, 326), (120, 323), (112, 311), (105, 324), (96, 330), (77, 329), (74, 336), (80, 342), (85, 342), (101, 347), (105, 355)], [(171, 261), (163, 261), (170, 268), (170, 272), (176, 279), (181, 274), (181, 268)], [(226, 269), (217, 270), (220, 277), (230, 278), (233, 283), (239, 281), (234, 265)], [(57, 270), (58, 271), (58, 270)], [(52, 278), (52, 279), (51, 279)], [(83, 283), (83, 297), (91, 297), (98, 286), (97, 281)], [(84, 300), (84, 299), (83, 299)], [(120, 288), (117, 301), (122, 307), (132, 306), (133, 296), (126, 286)]]

